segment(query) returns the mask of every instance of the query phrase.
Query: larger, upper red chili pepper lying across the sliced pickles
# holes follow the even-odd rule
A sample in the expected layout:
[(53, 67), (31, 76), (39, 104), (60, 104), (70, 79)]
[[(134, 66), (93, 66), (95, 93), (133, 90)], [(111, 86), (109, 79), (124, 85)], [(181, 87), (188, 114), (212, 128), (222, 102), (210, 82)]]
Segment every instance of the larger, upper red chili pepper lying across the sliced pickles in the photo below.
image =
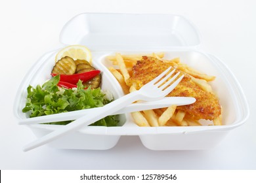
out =
[[(96, 75), (100, 73), (99, 70), (93, 70), (85, 73), (79, 73), (74, 75), (60, 75), (60, 81), (69, 82), (71, 84), (77, 84), (79, 80), (86, 82), (87, 80), (91, 80)], [(57, 74), (51, 73), (52, 76), (56, 76)]]

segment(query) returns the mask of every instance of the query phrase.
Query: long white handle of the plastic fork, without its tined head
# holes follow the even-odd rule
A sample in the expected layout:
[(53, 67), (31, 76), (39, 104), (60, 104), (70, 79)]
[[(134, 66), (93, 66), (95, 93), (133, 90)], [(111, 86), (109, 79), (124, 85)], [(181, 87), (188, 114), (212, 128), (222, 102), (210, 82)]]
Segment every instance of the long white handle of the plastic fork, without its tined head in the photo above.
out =
[(76, 131), (77, 129), (81, 128), (83, 125), (93, 124), (94, 122), (110, 114), (113, 114), (117, 110), (120, 110), (121, 108), (126, 107), (127, 105), (139, 99), (140, 99), (140, 93), (138, 91), (124, 95), (123, 97), (116, 99), (115, 101), (112, 101), (107, 105), (104, 105), (104, 107), (101, 107), (97, 113), (87, 114), (81, 118), (78, 118), (74, 122), (71, 122), (70, 124), (64, 125), (60, 129), (56, 129), (55, 131), (33, 142), (30, 142), (30, 144), (27, 144), (26, 146), (24, 146), (23, 150), (25, 152), (28, 150), (32, 150), (33, 148), (37, 148), (39, 146), (42, 146), (43, 144), (47, 144), (48, 142), (54, 141), (59, 137), (62, 137), (68, 133)]

